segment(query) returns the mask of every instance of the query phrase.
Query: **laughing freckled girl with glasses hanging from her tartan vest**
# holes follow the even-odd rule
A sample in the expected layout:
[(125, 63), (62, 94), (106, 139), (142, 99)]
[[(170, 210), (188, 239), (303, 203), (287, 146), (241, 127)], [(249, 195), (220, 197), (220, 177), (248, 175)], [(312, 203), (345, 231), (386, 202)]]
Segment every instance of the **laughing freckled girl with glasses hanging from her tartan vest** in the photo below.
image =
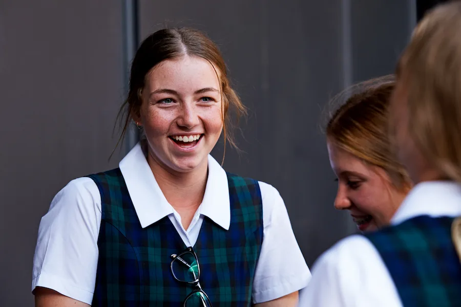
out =
[(310, 272), (279, 192), (210, 155), (244, 110), (216, 45), (191, 29), (146, 38), (125, 107), (143, 140), (40, 222), (36, 305), (295, 306)]

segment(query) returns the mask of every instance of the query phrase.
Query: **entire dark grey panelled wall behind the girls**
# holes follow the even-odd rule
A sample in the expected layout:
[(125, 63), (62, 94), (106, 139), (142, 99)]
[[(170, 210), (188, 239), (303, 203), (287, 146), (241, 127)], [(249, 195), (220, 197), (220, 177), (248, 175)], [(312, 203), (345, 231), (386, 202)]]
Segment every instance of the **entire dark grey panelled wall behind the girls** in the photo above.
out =
[[(332, 207), (336, 184), (324, 105), (352, 81), (393, 71), (414, 23), (414, 1), (148, 1), (140, 36), (192, 26), (217, 41), (250, 109), (240, 156), (224, 167), (282, 194), (309, 265), (353, 230)], [(0, 1), (0, 302), (32, 306), (40, 217), (73, 178), (108, 157), (123, 97), (123, 1)], [(219, 146), (218, 146), (219, 147)], [(214, 151), (219, 160), (222, 148)]]

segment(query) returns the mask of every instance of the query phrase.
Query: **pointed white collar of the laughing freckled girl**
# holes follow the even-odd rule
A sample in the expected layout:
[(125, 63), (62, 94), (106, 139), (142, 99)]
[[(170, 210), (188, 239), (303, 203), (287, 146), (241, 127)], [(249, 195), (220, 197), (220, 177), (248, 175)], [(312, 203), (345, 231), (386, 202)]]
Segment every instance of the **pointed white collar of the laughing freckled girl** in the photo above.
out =
[[(120, 161), (119, 167), (142, 228), (174, 213), (155, 180), (140, 143)], [(225, 230), (231, 225), (227, 174), (211, 155), (208, 155), (208, 179), (198, 212)]]

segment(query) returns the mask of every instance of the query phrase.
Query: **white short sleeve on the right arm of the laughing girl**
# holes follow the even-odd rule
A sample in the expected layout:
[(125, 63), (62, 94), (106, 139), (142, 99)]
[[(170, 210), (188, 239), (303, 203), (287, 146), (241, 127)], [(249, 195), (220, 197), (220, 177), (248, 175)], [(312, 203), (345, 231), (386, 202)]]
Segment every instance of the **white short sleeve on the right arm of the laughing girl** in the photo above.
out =
[(310, 271), (277, 189), (259, 182), (264, 239), (253, 283), (253, 303), (280, 298), (307, 286)]

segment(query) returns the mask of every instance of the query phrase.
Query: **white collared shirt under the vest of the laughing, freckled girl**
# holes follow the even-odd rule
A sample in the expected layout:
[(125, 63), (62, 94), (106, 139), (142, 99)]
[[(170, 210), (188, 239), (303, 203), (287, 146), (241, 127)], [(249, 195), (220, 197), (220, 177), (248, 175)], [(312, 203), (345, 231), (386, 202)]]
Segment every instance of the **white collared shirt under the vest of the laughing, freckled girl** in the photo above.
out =
[[(168, 216), (186, 246), (195, 245), (204, 216), (229, 229), (231, 208), (227, 176), (212, 156), (208, 156), (203, 201), (187, 230), (161, 192), (139, 143), (123, 158), (119, 167), (143, 228)], [(310, 279), (279, 192), (266, 183), (259, 182), (259, 185), (264, 239), (253, 283), (253, 303), (303, 289)], [(40, 221), (32, 290), (45, 287), (91, 304), (100, 223), (101, 196), (92, 179), (75, 179), (60, 190)]]

